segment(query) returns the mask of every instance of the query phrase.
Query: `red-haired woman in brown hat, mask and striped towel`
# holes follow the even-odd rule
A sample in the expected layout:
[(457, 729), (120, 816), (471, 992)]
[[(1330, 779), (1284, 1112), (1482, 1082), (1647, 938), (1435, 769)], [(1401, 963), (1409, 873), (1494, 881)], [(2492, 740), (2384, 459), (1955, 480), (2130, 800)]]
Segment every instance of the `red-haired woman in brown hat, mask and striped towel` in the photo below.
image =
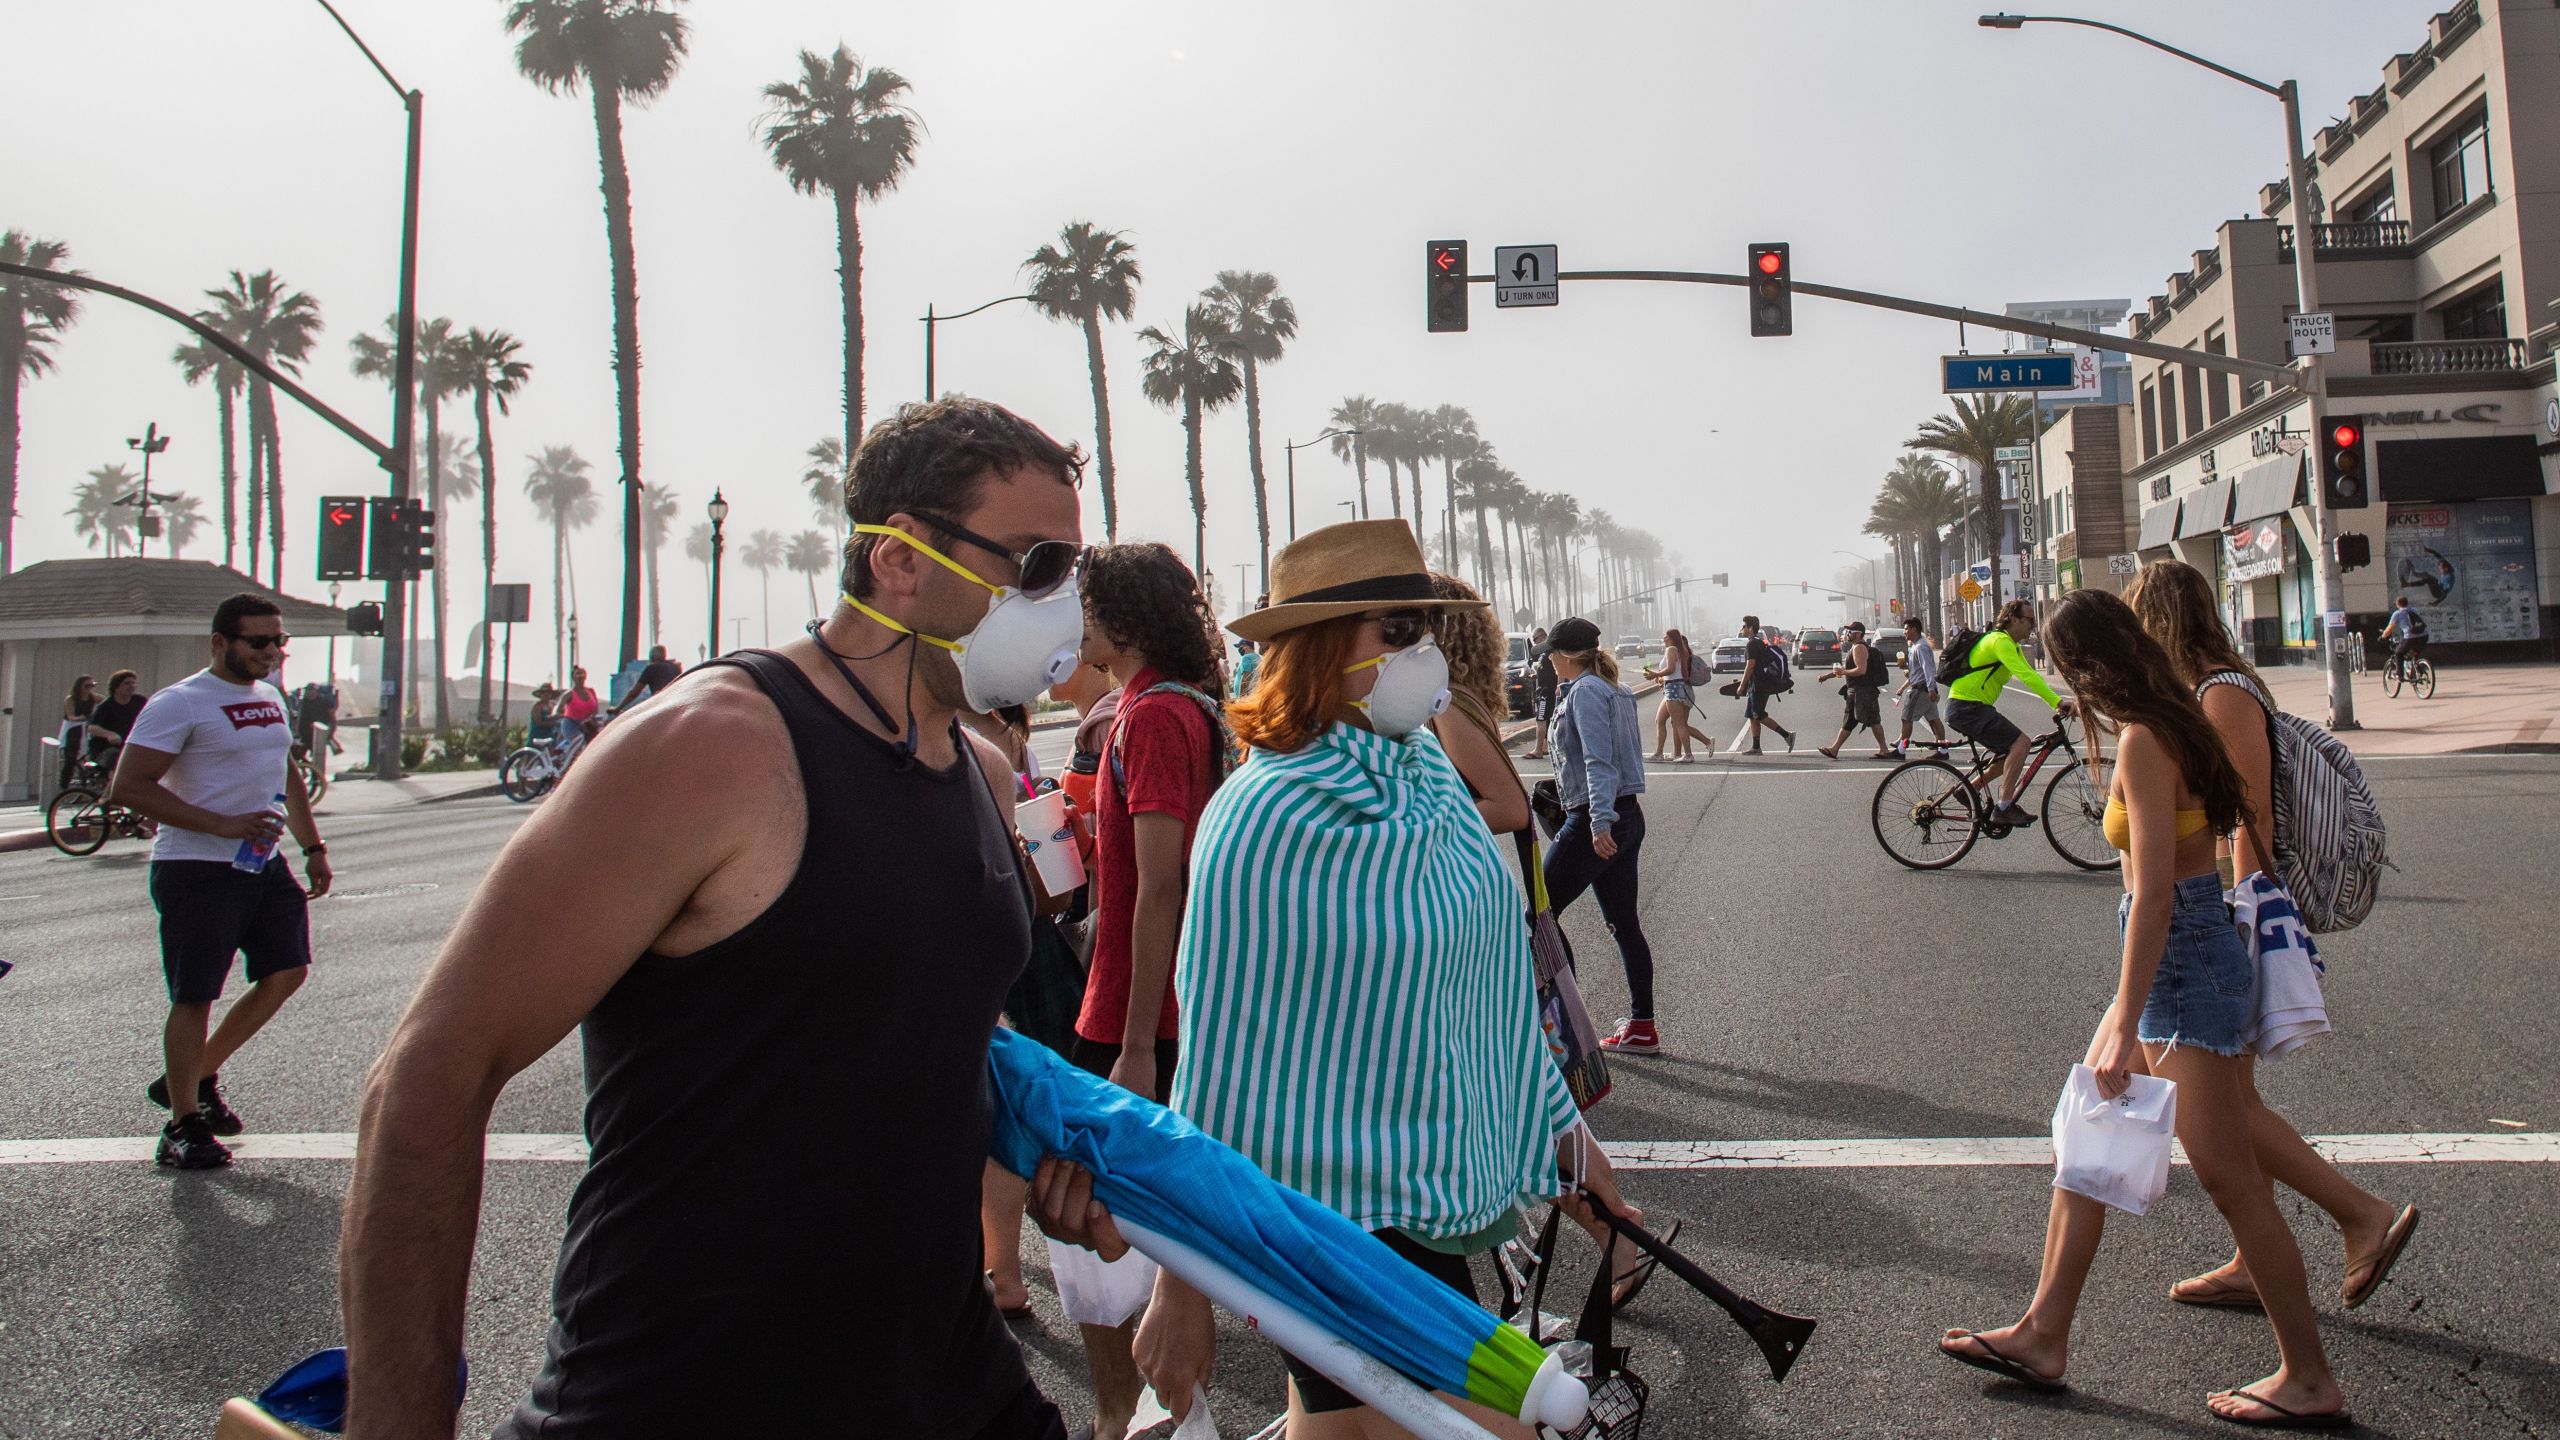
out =
[[(1449, 664), (1403, 520), (1316, 530), (1229, 630), (1262, 674), (1229, 705), (1249, 761), (1201, 815), (1175, 966), (1172, 1107), (1459, 1291), (1523, 1199), (1631, 1212), (1539, 1030), (1521, 887), (1431, 738)], [(1137, 1361), (1172, 1407), (1208, 1373), (1208, 1302), (1160, 1276)], [(1295, 1440), (1377, 1430), (1288, 1361)], [(1462, 1404), (1464, 1402), (1454, 1402)], [(1498, 1435), (1508, 1417), (1464, 1407)]]

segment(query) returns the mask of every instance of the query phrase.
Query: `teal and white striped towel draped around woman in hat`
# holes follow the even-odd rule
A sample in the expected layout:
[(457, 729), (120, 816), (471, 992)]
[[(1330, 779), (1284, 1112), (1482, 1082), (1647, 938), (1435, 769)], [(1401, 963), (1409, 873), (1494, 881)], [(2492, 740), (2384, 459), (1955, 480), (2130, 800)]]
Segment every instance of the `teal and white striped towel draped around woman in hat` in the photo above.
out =
[(1254, 751), (1193, 840), (1175, 1109), (1364, 1230), (1454, 1240), (1554, 1194), (1574, 1102), (1526, 904), (1428, 733)]

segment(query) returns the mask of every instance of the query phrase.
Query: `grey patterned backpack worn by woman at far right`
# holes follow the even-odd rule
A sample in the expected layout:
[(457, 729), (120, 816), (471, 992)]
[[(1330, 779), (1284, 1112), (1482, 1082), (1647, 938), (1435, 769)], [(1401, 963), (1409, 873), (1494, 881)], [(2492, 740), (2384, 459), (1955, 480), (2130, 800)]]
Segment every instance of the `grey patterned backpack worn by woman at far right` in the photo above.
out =
[(2381, 894), (2386, 858), (2383, 812), (2373, 802), (2363, 766), (2337, 735), (2276, 710), (2266, 689), (2243, 671), (2214, 671), (2196, 687), (2230, 684), (2266, 712), (2268, 751), (2276, 764), (2276, 879), (2294, 892), (2314, 935), (2353, 930)]

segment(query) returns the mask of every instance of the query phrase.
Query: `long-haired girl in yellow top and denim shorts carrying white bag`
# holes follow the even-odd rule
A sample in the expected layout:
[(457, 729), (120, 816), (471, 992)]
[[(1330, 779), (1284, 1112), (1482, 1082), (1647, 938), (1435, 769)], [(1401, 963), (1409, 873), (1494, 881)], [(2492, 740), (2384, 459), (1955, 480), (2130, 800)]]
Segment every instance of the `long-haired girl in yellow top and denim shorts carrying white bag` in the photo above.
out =
[[(2071, 692), (2120, 728), (2104, 833), (2125, 853), (2125, 943), (2115, 1002), (2086, 1063), (2107, 1099), (2132, 1074), (2179, 1086), (2179, 1143), (2248, 1256), (2281, 1353), (2276, 1373), (2214, 1391), (2204, 1407), (2232, 1425), (2342, 1427), (2348, 1412), (2319, 1345), (2301, 1250), (2255, 1156), (2245, 1030), (2258, 976), (2214, 871), (2220, 838), (2253, 817), (2248, 787), (2194, 689), (2122, 600), (2104, 589), (2066, 594), (2045, 620), (2045, 646)], [(2071, 1320), (2104, 1217), (2097, 1199), (2056, 1186), (2025, 1317), (1999, 1330), (1948, 1330), (1938, 1348), (2028, 1389), (2066, 1389)]]

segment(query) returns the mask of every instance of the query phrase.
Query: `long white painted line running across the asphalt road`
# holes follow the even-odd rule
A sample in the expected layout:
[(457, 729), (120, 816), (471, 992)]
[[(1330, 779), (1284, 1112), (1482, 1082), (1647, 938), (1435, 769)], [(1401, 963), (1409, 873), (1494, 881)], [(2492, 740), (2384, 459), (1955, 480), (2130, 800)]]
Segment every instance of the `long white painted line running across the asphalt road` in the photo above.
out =
[[(156, 1135), (92, 1140), (0, 1140), (0, 1166), (148, 1163)], [(241, 1135), (228, 1140), (243, 1161), (353, 1161), (356, 1135)], [(2491, 1135), (2312, 1135), (2342, 1166), (2560, 1163), (2560, 1133)], [(1953, 1140), (1615, 1140), (1608, 1158), (1623, 1171), (1884, 1171), (1933, 1166), (2051, 1166), (2045, 1135)], [(584, 1135), (489, 1135), (489, 1163), (586, 1163)], [(2173, 1153), (2184, 1166), (2186, 1156)]]

